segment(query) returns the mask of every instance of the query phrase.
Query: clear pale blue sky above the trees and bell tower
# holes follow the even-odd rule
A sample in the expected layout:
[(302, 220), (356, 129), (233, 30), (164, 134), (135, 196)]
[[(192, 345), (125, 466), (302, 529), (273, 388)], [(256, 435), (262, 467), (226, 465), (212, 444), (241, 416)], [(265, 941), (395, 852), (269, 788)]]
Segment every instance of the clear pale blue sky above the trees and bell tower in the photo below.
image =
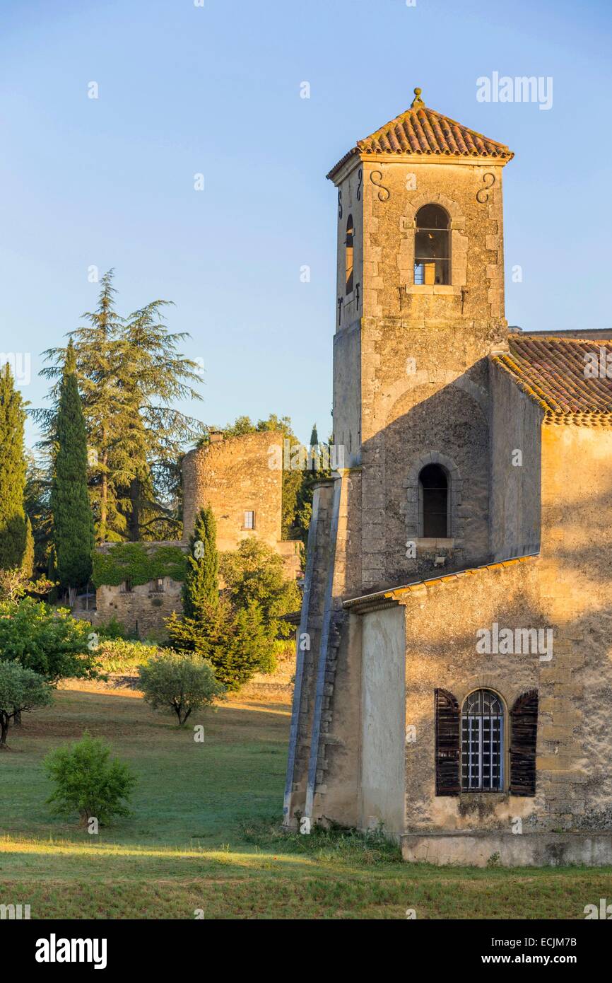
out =
[[(173, 300), (170, 326), (192, 334), (204, 398), (184, 409), (216, 425), (276, 412), (305, 440), (314, 421), (328, 434), (336, 212), (325, 174), (415, 86), (516, 152), (505, 171), (510, 323), (611, 327), (611, 10), (3, 0), (0, 351), (30, 354), (25, 397), (43, 404), (39, 353), (95, 306), (88, 267), (114, 266), (120, 310)], [(476, 79), (493, 72), (552, 77), (552, 108), (478, 102)]]

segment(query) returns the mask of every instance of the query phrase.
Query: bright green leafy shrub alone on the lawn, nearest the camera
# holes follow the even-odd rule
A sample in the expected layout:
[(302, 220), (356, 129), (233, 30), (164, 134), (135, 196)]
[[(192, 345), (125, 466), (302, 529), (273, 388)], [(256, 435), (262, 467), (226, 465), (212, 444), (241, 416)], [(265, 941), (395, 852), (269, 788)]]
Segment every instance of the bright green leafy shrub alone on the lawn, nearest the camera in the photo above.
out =
[(80, 741), (47, 755), (43, 765), (56, 785), (47, 802), (56, 812), (77, 812), (84, 826), (91, 818), (104, 824), (130, 814), (126, 802), (136, 777), (118, 758), (110, 761), (110, 751), (108, 744), (85, 730)]

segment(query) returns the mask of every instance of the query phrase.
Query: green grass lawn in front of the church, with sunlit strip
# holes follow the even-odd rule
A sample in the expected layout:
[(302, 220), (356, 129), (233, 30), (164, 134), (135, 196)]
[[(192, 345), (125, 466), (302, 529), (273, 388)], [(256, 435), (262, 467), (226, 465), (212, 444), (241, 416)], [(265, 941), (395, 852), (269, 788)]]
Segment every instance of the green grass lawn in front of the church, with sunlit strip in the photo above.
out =
[[(130, 691), (59, 691), (0, 754), (0, 903), (32, 918), (582, 919), (612, 896), (611, 868), (412, 866), (384, 842), (281, 834), (289, 714), (232, 702), (180, 729)], [(45, 805), (42, 758), (85, 728), (139, 778), (134, 814), (98, 836)]]

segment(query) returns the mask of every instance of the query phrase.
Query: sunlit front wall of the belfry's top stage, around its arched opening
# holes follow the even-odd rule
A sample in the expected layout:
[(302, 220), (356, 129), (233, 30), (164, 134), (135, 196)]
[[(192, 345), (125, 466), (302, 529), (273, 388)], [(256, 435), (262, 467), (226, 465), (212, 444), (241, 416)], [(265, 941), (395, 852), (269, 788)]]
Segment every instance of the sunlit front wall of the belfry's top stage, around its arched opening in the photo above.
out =
[[(432, 328), (504, 318), (502, 171), (492, 161), (363, 162), (363, 317)], [(486, 193), (485, 174), (495, 179)], [(450, 217), (449, 285), (414, 283), (416, 215), (429, 203)]]

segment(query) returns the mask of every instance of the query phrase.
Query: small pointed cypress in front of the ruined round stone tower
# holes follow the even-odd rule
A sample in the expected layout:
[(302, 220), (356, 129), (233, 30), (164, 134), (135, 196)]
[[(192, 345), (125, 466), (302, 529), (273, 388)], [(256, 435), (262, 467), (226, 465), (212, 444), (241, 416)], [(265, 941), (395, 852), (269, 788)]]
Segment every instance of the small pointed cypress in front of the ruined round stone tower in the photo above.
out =
[(183, 585), (183, 614), (205, 622), (211, 607), (219, 604), (219, 554), (217, 525), (211, 508), (202, 508), (195, 518), (190, 539), (187, 576)]

